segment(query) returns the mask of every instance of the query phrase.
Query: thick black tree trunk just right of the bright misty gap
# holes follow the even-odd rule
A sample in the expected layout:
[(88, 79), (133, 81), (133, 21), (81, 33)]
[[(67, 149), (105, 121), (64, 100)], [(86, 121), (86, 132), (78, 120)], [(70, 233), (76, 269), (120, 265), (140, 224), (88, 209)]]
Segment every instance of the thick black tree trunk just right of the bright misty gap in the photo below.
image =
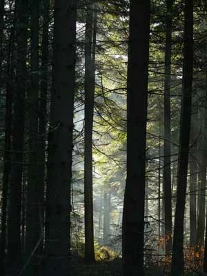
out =
[(123, 211), (124, 276), (144, 275), (144, 198), (150, 1), (130, 1), (127, 179)]

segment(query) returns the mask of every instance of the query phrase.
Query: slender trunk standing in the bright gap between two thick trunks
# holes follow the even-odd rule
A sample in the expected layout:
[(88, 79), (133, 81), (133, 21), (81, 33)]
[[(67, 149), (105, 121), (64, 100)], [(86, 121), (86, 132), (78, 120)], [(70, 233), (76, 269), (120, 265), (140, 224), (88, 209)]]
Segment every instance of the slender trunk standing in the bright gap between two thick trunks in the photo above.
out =
[(92, 124), (95, 99), (95, 13), (88, 5), (86, 13), (85, 44), (85, 137), (84, 137), (84, 206), (85, 206), (85, 260), (95, 262), (92, 203)]

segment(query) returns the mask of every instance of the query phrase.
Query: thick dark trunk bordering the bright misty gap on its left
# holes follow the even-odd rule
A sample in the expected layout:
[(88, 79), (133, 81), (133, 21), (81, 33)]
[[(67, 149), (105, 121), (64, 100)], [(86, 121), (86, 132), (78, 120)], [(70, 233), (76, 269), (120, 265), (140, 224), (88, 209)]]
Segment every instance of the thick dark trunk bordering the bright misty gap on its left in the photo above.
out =
[(45, 275), (68, 275), (77, 1), (55, 0)]

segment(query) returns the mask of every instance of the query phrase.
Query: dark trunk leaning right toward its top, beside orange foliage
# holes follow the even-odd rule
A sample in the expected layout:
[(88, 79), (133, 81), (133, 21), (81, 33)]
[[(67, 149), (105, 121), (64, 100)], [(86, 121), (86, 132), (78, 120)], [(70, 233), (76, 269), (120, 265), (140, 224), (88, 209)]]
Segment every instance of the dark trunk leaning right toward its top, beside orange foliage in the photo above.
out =
[(184, 275), (184, 212), (186, 203), (193, 82), (193, 0), (185, 0), (184, 3), (184, 64), (177, 176), (177, 202), (172, 247), (172, 276)]

